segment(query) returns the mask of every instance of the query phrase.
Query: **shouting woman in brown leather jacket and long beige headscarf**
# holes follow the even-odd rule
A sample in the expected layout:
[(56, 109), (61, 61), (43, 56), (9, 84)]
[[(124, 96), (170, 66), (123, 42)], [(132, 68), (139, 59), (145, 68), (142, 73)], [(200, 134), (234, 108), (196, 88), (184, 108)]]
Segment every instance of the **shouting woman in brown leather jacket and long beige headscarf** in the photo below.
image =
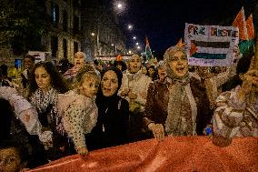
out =
[(164, 54), (167, 76), (149, 86), (145, 126), (154, 137), (201, 135), (210, 120), (208, 98), (200, 82), (189, 76), (184, 46), (172, 46)]

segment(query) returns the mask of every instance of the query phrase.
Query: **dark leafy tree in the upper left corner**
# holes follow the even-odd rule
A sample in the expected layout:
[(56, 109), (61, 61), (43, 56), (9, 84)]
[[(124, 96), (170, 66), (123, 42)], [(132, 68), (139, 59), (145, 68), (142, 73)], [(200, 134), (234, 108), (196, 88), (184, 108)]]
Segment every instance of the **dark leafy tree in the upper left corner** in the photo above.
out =
[(41, 36), (47, 34), (45, 1), (1, 0), (0, 46), (12, 47), (16, 55), (43, 50)]

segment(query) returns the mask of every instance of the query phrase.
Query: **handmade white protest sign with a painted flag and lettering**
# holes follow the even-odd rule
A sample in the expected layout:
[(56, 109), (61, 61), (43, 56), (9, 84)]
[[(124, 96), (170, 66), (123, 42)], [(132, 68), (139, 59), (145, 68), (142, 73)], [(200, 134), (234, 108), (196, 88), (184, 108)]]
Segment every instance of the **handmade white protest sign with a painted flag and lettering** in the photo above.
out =
[(233, 26), (185, 24), (184, 42), (189, 65), (232, 66), (239, 31)]

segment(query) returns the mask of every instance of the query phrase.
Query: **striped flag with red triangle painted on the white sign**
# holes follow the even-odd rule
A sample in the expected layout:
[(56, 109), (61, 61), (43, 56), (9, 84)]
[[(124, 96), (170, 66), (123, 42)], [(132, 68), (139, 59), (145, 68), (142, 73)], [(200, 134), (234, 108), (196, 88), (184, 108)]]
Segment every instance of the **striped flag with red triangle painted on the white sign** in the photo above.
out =
[(190, 56), (202, 59), (226, 59), (230, 42), (204, 42), (191, 40)]

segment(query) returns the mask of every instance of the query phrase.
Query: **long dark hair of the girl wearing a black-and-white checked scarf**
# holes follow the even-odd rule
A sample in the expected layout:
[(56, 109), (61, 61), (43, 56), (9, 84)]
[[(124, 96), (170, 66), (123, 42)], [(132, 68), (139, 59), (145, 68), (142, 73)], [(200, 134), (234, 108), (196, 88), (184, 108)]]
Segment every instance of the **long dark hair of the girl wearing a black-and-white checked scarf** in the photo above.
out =
[(63, 76), (60, 75), (60, 73), (56, 70), (55, 66), (51, 62), (39, 62), (35, 64), (35, 67), (30, 73), (29, 92), (27, 97), (32, 96), (32, 94), (38, 88), (35, 82), (35, 69), (40, 66), (44, 67), (46, 72), (50, 75), (51, 86), (54, 87), (59, 93), (65, 93), (69, 90), (69, 86), (65, 82), (65, 79), (63, 78)]

